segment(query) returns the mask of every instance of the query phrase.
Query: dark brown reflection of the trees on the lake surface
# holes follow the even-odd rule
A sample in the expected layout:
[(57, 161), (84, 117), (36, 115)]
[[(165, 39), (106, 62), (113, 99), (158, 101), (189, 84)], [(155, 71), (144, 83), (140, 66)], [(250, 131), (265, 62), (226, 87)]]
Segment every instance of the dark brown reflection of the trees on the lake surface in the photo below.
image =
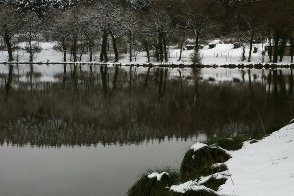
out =
[(215, 83), (201, 79), (196, 69), (192, 76), (174, 77), (168, 69), (137, 73), (117, 66), (95, 72), (91, 66), (88, 72), (72, 65), (55, 75), (58, 82), (33, 86), (36, 74), (29, 74), (16, 88), (9, 68), (0, 98), (1, 144), (124, 145), (199, 133), (257, 135), (263, 133), (258, 112), (267, 132), (294, 116), (292, 70), (262, 72), (262, 81), (246, 81), (251, 73), (242, 72), (238, 81)]

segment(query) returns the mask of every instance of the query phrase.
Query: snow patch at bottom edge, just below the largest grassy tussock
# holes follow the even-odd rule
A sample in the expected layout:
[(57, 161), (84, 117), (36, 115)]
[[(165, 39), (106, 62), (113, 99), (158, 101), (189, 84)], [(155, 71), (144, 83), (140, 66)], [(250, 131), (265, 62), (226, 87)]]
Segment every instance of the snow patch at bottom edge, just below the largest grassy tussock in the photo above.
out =
[(217, 194), (217, 192), (215, 192), (214, 190), (207, 188), (206, 186), (203, 186), (203, 185), (198, 185), (197, 182), (193, 180), (190, 180), (183, 184), (172, 185), (170, 190), (177, 193), (186, 193), (186, 191), (193, 190), (193, 191), (207, 191), (207, 192)]

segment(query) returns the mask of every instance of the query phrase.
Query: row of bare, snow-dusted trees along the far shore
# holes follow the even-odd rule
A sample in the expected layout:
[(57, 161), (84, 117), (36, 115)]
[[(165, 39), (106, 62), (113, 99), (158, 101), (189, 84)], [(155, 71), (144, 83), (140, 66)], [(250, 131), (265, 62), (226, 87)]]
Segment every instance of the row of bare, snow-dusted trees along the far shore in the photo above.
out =
[(181, 60), (185, 43), (193, 40), (197, 63), (200, 44), (223, 38), (247, 46), (248, 62), (254, 43), (266, 43), (274, 63), (291, 46), (293, 62), (293, 8), (292, 0), (0, 0), (0, 36), (9, 61), (21, 41), (30, 61), (33, 41), (57, 41), (64, 61), (69, 52), (77, 62), (88, 51), (89, 61), (107, 62), (112, 51), (115, 62), (122, 53), (132, 62), (145, 51), (148, 62), (151, 52), (168, 62), (170, 46), (178, 46)]

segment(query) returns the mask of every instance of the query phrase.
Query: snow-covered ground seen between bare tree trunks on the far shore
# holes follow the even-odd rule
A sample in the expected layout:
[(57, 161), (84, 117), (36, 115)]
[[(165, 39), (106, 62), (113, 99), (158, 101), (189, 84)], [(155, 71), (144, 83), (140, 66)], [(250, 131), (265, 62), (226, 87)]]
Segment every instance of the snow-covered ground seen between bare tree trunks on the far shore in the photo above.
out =
[[(34, 54), (34, 62), (42, 62), (42, 63), (63, 63), (63, 52), (55, 51), (53, 49), (54, 45), (57, 43), (48, 43), (41, 42), (38, 45), (43, 49), (41, 52), (36, 52)], [(21, 43), (20, 47), (25, 47), (25, 43)], [(242, 48), (234, 49), (233, 44), (217, 44), (215, 48), (209, 49), (208, 45), (205, 45), (203, 49), (200, 49), (199, 55), (201, 57), (201, 63), (203, 65), (226, 65), (226, 64), (257, 64), (262, 63), (262, 45), (255, 44), (253, 47), (258, 48), (256, 53), (252, 53), (251, 62), (241, 61), (242, 56)], [(194, 50), (183, 50), (182, 51), (182, 60), (178, 61), (180, 49), (169, 49), (169, 62), (172, 64), (184, 64), (189, 65), (191, 62), (191, 55)], [(246, 48), (245, 56), (248, 57), (248, 48)], [(17, 51), (14, 52), (14, 59), (17, 57)], [(114, 54), (109, 53), (110, 61), (109, 64), (113, 64)], [(78, 53), (79, 59), (79, 53)], [(159, 63), (155, 62), (153, 54), (151, 52), (151, 63), (154, 65), (158, 65)], [(0, 51), (0, 62), (7, 62), (8, 54), (7, 51)], [(19, 51), (19, 62), (29, 62), (29, 54), (25, 51)], [(67, 62), (70, 62), (70, 54), (67, 54)], [(81, 62), (83, 63), (91, 63), (89, 62), (89, 54), (83, 54)], [(265, 56), (264, 64), (269, 62), (269, 56)], [(99, 63), (99, 52), (95, 52), (93, 56), (92, 63)], [(146, 64), (147, 57), (146, 52), (138, 53), (137, 57), (133, 57), (132, 63), (129, 62), (128, 54), (121, 54), (119, 62), (120, 64)], [(277, 65), (285, 65), (290, 64), (291, 59), (289, 56), (285, 56), (282, 62), (276, 63)]]

